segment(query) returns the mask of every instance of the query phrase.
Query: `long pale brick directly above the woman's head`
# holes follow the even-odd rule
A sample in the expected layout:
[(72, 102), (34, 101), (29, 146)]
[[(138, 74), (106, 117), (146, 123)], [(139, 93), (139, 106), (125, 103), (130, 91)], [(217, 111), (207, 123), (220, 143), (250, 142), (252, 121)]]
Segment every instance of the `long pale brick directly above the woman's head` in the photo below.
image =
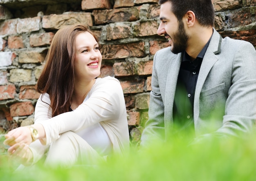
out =
[(91, 13), (69, 13), (60, 15), (45, 15), (42, 18), (43, 28), (60, 29), (64, 25), (84, 23), (92, 26)]

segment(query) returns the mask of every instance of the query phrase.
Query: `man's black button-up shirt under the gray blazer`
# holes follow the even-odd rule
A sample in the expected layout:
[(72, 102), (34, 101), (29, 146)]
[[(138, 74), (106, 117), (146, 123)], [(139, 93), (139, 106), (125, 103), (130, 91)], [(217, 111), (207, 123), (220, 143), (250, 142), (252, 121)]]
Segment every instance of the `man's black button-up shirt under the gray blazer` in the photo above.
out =
[(182, 56), (173, 105), (173, 121), (181, 129), (193, 125), (195, 86), (210, 40), (211, 38), (195, 60), (191, 61), (186, 52)]

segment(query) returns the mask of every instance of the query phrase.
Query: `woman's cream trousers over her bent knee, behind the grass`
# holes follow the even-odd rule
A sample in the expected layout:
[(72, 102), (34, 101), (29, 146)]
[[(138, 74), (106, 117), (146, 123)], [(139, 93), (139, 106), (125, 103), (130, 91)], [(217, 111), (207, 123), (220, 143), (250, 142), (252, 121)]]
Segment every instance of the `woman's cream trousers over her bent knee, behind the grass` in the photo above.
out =
[[(71, 166), (96, 166), (106, 158), (98, 154), (82, 137), (72, 131), (61, 134), (46, 154), (44, 165), (47, 167), (68, 168)], [(34, 168), (20, 165), (16, 170)]]

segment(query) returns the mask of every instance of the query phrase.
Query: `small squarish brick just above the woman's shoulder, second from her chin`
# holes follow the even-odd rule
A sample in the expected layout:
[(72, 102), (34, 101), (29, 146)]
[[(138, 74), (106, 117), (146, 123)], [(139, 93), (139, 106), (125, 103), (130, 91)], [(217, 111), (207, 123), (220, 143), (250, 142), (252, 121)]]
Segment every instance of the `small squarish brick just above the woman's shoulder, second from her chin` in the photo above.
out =
[(132, 62), (117, 62), (113, 65), (115, 76), (128, 76), (133, 75)]

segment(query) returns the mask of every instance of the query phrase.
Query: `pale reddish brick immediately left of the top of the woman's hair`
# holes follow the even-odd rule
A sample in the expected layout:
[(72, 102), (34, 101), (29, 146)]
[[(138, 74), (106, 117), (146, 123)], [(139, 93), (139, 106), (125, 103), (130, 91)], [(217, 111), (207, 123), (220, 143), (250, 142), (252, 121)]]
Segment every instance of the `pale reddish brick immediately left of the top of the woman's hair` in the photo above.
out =
[(30, 35), (29, 44), (31, 47), (35, 46), (46, 46), (52, 43), (52, 38), (54, 37), (54, 33), (36, 33)]

